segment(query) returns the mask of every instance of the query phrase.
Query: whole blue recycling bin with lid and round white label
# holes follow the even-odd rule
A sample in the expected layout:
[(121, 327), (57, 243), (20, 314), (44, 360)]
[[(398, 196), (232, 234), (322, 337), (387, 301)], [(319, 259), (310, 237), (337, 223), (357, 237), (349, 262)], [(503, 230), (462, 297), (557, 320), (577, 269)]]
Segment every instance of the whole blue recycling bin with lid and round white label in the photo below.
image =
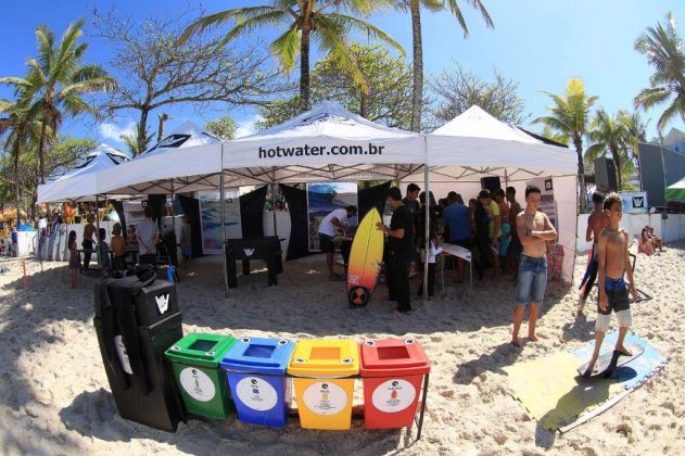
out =
[(284, 377), (295, 343), (278, 339), (242, 338), (220, 363), (238, 419), (261, 426), (288, 423), (290, 389)]

